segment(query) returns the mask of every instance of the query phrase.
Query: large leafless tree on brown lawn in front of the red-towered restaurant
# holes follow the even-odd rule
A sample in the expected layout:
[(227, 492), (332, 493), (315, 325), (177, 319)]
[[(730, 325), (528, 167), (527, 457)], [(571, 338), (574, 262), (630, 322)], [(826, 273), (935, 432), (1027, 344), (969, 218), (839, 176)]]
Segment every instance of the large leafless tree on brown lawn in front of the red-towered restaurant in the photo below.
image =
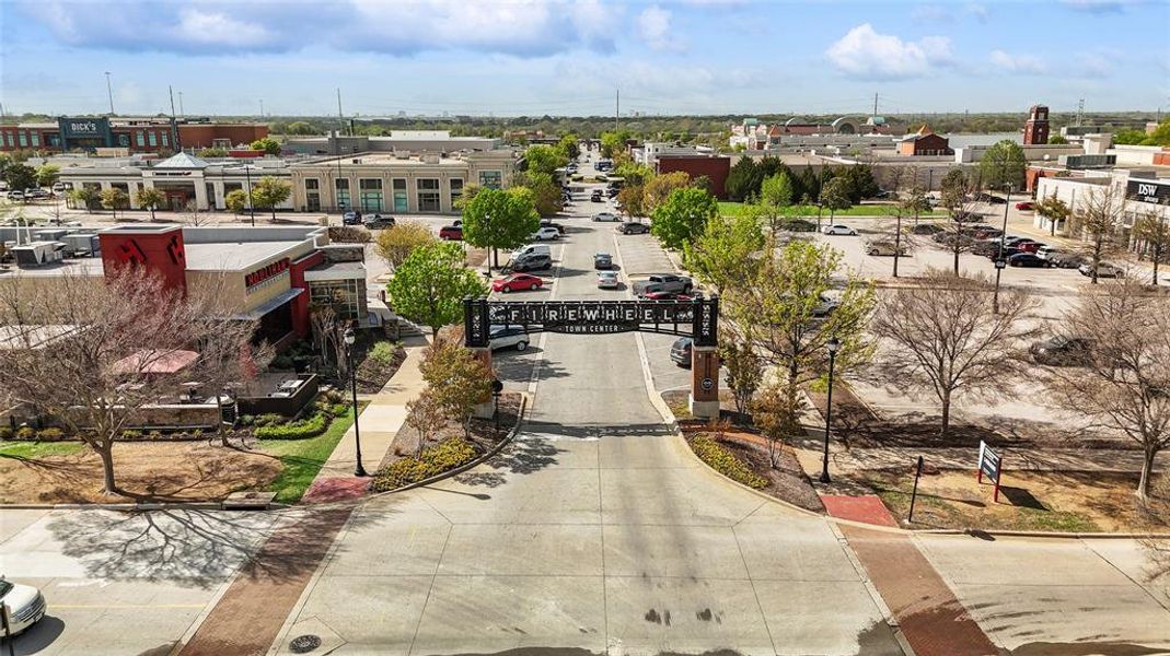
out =
[[(242, 353), (252, 332), (207, 313), (212, 285), (184, 294), (130, 267), (56, 285), (53, 294), (21, 278), (0, 285), (0, 325), (22, 343), (0, 350), (0, 396), (84, 441), (102, 461), (104, 491), (117, 493), (113, 446), (123, 429), (185, 381), (239, 372), (228, 354)], [(204, 351), (219, 355), (204, 359)]]

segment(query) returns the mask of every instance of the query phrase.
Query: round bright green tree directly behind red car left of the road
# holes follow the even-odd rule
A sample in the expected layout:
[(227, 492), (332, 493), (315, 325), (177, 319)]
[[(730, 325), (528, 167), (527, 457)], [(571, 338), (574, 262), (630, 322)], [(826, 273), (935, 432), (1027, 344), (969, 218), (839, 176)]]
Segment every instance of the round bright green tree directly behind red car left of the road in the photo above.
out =
[(500, 267), (498, 249), (517, 248), (541, 228), (541, 215), (524, 187), (481, 189), (463, 208), (463, 241), (490, 248)]

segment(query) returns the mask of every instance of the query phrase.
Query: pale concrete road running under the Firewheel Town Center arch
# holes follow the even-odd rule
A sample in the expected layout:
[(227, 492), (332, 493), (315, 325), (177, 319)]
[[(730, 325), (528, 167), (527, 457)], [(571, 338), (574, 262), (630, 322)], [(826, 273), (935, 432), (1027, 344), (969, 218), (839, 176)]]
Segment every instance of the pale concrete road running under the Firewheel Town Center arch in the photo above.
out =
[[(565, 222), (544, 297), (624, 296), (591, 272), (612, 225)], [(277, 647), (312, 633), (337, 654), (902, 654), (825, 520), (727, 483), (670, 435), (636, 340), (543, 336), (516, 442), (366, 504)]]

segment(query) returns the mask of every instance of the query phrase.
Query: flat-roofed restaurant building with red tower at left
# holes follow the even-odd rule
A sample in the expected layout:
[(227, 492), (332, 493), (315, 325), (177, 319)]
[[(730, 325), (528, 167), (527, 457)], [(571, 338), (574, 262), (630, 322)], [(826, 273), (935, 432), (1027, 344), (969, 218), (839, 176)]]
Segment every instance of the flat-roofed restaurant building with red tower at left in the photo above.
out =
[[(99, 251), (73, 257), (67, 233), (96, 234)], [(325, 227), (0, 228), (0, 241), (19, 255), (16, 268), (0, 269), (0, 285), (22, 285), (21, 294), (67, 294), (67, 277), (99, 283), (135, 265), (158, 274), (167, 289), (216, 283), (222, 316), (257, 322), (256, 340), (277, 347), (310, 336), (311, 305), (367, 319), (362, 248), (331, 244)]]

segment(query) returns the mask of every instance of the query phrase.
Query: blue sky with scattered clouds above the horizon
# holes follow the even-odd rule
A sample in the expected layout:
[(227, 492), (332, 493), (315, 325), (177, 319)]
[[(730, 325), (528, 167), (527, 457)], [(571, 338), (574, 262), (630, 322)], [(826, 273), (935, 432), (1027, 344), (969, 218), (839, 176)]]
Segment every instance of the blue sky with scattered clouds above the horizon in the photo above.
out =
[[(0, 0), (5, 111), (1170, 110), (1170, 2)], [(177, 96), (178, 102), (178, 96)]]

